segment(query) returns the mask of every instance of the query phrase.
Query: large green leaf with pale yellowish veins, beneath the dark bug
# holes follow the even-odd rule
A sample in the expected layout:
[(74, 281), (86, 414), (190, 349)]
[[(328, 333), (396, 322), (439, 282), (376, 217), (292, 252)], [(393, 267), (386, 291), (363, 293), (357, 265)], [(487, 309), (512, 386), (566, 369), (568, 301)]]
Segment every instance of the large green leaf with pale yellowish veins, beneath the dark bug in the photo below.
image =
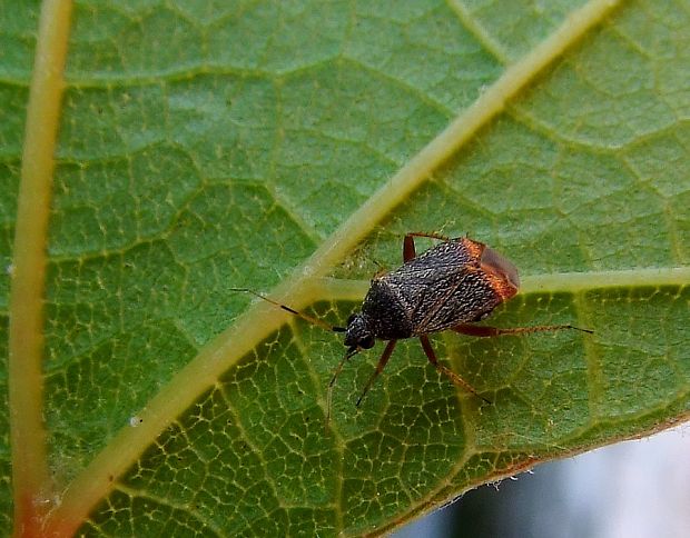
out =
[[(382, 534), (688, 420), (690, 16), (538, 4), (75, 6), (34, 379), (45, 529)], [(0, 20), (11, 269), (38, 7), (0, 2)], [(344, 323), (417, 230), (469, 233), (520, 268), (492, 325), (595, 332), (434, 335), (491, 405), (401, 341), (355, 408), (379, 343), (345, 365), (324, 428), (341, 338), (231, 288)], [(12, 382), (3, 370), (3, 397)], [(9, 529), (9, 431), (30, 411), (6, 409)]]

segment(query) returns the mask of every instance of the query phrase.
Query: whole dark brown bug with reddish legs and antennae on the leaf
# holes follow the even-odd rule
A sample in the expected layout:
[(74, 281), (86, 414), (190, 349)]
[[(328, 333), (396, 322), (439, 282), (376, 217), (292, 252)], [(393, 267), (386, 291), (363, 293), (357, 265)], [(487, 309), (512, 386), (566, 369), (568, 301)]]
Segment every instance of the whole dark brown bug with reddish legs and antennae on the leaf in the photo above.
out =
[[(437, 239), (435, 247), (416, 256), (415, 237)], [(359, 312), (347, 319), (346, 327), (329, 326), (249, 289), (255, 296), (299, 316), (306, 321), (334, 332), (344, 332), (347, 351), (337, 365), (327, 393), (326, 422), (331, 417), (333, 387), (353, 356), (374, 347), (376, 340), (387, 341), (376, 369), (367, 380), (358, 407), (393, 355), (395, 345), (405, 338), (418, 338), (428, 361), (456, 386), (482, 398), (457, 373), (438, 362), (428, 335), (454, 330), (475, 337), (495, 337), (528, 332), (579, 329), (572, 325), (496, 328), (473, 325), (486, 318), (499, 305), (511, 299), (520, 287), (515, 266), (486, 245), (467, 237), (448, 238), (437, 233), (411, 232), (403, 241), (403, 265), (391, 272), (375, 276)]]

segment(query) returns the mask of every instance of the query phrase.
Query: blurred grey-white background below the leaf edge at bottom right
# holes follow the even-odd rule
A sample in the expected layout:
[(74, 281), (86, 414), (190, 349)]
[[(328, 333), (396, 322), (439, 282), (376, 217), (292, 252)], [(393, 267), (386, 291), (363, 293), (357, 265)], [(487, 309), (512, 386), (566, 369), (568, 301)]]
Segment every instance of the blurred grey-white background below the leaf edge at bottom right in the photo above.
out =
[(395, 538), (688, 538), (690, 424), (469, 491)]

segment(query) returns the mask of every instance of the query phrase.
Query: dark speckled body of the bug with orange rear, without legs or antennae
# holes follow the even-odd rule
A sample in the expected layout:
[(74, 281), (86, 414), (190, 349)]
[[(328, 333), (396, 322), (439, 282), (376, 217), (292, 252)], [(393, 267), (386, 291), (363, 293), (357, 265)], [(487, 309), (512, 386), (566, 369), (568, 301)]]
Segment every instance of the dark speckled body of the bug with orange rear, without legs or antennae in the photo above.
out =
[(367, 348), (372, 339), (400, 340), (479, 321), (519, 286), (518, 270), (495, 250), (464, 237), (444, 238), (372, 280), (362, 312), (348, 320), (345, 345)]

